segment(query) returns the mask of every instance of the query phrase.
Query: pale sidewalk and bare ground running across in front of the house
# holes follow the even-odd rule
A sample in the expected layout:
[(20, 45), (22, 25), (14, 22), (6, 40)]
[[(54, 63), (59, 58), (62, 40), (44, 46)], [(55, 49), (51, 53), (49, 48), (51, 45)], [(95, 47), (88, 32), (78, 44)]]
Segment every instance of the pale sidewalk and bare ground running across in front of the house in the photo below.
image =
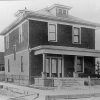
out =
[[(26, 100), (45, 100), (46, 98), (59, 98), (59, 99), (79, 99), (100, 96), (100, 86), (83, 86), (83, 87), (67, 87), (56, 89), (36, 89), (32, 87), (18, 86), (11, 83), (0, 82), (3, 89), (7, 91), (8, 96), (11, 98), (23, 97)], [(20, 99), (19, 99), (20, 100)]]

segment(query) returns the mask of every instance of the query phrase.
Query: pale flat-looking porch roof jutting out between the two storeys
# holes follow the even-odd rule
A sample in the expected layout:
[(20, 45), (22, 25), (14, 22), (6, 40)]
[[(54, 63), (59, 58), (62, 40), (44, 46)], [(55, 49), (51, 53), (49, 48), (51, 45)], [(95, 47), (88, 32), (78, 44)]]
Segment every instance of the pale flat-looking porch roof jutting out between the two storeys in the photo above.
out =
[(30, 51), (34, 50), (34, 54), (61, 54), (61, 55), (78, 55), (78, 56), (91, 56), (100, 57), (100, 51), (94, 49), (85, 49), (77, 47), (65, 47), (65, 46), (52, 46), (52, 45), (40, 45), (31, 48)]

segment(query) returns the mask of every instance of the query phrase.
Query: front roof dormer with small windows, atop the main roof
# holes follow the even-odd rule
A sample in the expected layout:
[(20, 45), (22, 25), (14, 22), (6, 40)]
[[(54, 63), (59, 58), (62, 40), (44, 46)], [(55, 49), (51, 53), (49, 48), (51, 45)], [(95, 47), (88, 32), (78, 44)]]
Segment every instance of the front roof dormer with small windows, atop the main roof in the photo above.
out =
[(57, 16), (57, 17), (66, 17), (68, 16), (69, 10), (71, 7), (69, 6), (64, 6), (64, 5), (59, 5), (59, 4), (54, 4), (51, 7), (48, 7), (47, 10)]

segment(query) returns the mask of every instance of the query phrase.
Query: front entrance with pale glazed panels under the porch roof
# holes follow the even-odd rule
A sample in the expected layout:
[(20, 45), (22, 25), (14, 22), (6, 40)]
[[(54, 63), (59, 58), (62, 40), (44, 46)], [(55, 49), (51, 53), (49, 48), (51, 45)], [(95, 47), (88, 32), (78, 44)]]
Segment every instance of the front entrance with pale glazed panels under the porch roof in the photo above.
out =
[(62, 58), (46, 58), (47, 77), (62, 77)]

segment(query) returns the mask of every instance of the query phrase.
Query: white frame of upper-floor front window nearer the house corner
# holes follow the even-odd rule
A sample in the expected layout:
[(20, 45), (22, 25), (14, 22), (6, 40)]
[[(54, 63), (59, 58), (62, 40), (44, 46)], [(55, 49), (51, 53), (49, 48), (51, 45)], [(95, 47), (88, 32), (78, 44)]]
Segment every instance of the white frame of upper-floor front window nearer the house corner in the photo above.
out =
[[(50, 32), (50, 25), (54, 25), (55, 26), (55, 32)], [(55, 40), (50, 39), (50, 33), (55, 33)], [(48, 41), (50, 42), (57, 42), (57, 24), (56, 23), (49, 23), (48, 22)]]

